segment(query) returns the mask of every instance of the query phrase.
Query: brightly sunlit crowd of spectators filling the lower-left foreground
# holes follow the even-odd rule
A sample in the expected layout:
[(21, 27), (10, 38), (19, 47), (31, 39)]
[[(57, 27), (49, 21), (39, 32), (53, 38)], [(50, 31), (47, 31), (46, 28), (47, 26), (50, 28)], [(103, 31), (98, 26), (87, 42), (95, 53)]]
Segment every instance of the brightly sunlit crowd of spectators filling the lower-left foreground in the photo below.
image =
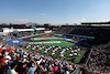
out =
[(0, 43), (0, 74), (69, 74), (75, 70), (74, 63), (32, 52), (22, 45)]

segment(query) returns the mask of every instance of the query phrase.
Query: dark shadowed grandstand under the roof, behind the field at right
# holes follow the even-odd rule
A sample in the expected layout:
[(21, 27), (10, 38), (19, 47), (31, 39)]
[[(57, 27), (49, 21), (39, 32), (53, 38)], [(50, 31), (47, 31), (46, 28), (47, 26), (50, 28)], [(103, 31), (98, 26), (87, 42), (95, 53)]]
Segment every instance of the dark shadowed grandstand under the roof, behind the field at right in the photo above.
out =
[[(89, 44), (106, 43), (110, 40), (110, 28), (88, 25), (62, 25), (56, 33), (62, 33), (76, 39), (81, 39)], [(105, 36), (106, 35), (106, 36)], [(86, 41), (85, 41), (86, 40)]]

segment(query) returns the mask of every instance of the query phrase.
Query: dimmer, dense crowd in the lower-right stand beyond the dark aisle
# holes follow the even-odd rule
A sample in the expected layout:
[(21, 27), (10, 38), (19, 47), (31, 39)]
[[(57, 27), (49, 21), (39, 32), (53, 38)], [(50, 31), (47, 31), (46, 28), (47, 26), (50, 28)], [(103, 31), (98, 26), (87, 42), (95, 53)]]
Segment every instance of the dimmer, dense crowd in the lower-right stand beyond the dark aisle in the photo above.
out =
[(110, 43), (92, 47), (89, 67), (101, 73), (110, 72)]

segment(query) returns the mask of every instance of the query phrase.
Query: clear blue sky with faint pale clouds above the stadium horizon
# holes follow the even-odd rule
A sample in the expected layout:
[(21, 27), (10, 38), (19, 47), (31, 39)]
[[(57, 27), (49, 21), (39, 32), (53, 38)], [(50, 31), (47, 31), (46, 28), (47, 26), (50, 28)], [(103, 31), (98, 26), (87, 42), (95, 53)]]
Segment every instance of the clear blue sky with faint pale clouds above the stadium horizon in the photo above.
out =
[(109, 21), (110, 0), (0, 0), (0, 23)]

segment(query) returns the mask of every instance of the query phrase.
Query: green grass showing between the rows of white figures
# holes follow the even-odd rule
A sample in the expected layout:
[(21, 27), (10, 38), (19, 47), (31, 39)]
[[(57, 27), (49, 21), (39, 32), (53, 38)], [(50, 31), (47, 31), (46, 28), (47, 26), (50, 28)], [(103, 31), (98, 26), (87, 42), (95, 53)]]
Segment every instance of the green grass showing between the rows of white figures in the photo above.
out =
[[(30, 47), (30, 49), (32, 49), (32, 47)], [(35, 50), (32, 50), (32, 51), (34, 51), (34, 52), (36, 51), (37, 53), (45, 54), (45, 53), (44, 53), (44, 50), (45, 50), (45, 49), (42, 49), (42, 50), (40, 50), (40, 52), (37, 52), (37, 47), (36, 47)], [(54, 50), (54, 49), (48, 50), (46, 54), (47, 54), (47, 55), (52, 55), (53, 50)], [(54, 56), (56, 56), (56, 57), (62, 57), (62, 59), (65, 59), (65, 60), (67, 60), (67, 61), (72, 61), (72, 57), (69, 56), (70, 50), (65, 51), (65, 52), (64, 52), (64, 56), (61, 56), (61, 52), (62, 52), (62, 51), (63, 51), (63, 49), (58, 49), (58, 50), (55, 52)], [(86, 52), (86, 51), (79, 51), (79, 52), (77, 52), (77, 53), (78, 53), (77, 56), (74, 56), (74, 53), (73, 53), (73, 56), (75, 57), (74, 63), (79, 63), (79, 61), (80, 61), (80, 59), (82, 57), (82, 55), (85, 54), (85, 52)]]

